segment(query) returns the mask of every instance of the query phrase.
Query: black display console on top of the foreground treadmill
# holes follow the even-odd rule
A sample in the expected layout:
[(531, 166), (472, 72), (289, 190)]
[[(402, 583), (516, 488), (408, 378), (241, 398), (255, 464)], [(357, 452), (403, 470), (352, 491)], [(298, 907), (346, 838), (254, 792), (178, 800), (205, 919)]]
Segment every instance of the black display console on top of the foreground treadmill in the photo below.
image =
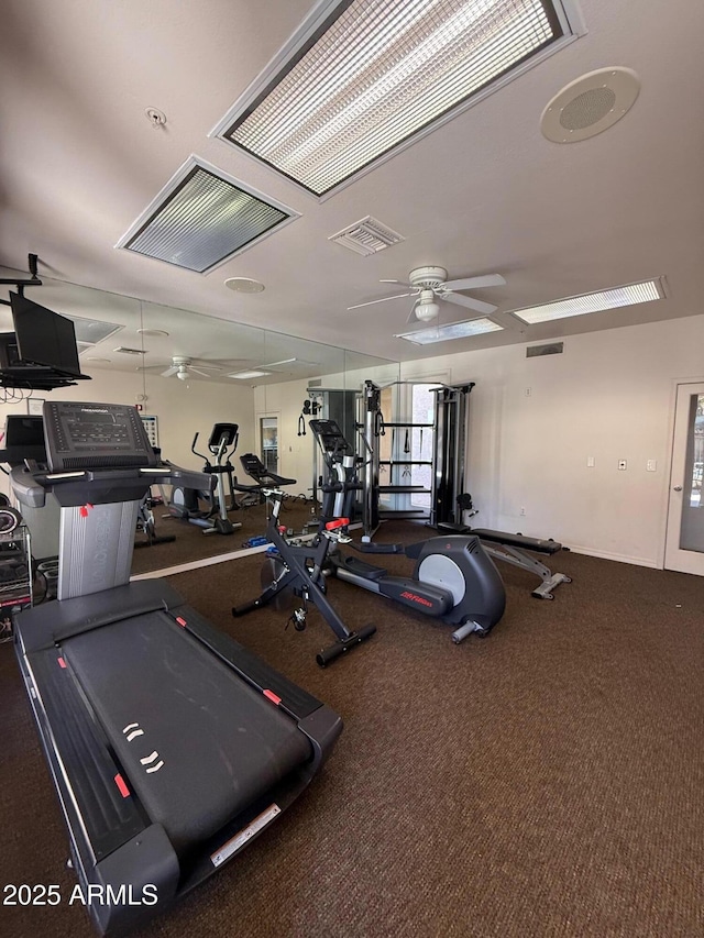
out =
[(129, 405), (47, 400), (44, 433), (51, 472), (157, 465), (140, 415)]

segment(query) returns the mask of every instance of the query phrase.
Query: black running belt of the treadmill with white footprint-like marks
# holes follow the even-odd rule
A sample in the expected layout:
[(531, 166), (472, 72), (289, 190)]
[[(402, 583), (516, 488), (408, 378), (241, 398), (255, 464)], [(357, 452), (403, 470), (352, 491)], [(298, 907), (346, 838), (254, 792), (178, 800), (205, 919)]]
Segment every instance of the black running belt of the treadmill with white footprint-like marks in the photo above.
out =
[(178, 853), (312, 757), (294, 720), (165, 613), (74, 636), (62, 651)]

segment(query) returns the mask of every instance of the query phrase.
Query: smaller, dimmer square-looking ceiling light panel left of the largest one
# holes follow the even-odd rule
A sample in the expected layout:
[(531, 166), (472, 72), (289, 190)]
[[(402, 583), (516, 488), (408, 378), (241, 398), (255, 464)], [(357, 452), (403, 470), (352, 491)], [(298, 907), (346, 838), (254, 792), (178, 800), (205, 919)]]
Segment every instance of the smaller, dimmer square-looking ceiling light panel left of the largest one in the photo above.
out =
[(206, 274), (295, 218), (190, 156), (116, 246)]

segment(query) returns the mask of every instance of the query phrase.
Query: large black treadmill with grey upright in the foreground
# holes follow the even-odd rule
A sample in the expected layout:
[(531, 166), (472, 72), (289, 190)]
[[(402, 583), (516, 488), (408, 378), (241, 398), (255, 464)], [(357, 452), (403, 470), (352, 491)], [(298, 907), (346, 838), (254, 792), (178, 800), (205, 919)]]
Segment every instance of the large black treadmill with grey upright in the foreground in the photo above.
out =
[(134, 407), (46, 401), (44, 431), (11, 483), (61, 506), (58, 600), (18, 616), (15, 650), (87, 908), (124, 935), (274, 821), (342, 721), (166, 582), (129, 582), (148, 486), (212, 476), (160, 464)]

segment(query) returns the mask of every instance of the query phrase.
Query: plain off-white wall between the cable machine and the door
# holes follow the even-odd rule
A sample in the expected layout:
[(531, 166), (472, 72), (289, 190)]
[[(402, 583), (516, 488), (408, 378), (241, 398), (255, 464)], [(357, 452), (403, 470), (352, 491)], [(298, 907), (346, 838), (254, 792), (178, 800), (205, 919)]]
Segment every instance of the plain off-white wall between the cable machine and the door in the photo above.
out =
[[(465, 485), (480, 508), (476, 527), (662, 566), (674, 388), (704, 375), (704, 317), (563, 341), (562, 355), (487, 349), (407, 363), (402, 377), (435, 368), (453, 383), (476, 382)], [(648, 460), (657, 472), (646, 471)]]

